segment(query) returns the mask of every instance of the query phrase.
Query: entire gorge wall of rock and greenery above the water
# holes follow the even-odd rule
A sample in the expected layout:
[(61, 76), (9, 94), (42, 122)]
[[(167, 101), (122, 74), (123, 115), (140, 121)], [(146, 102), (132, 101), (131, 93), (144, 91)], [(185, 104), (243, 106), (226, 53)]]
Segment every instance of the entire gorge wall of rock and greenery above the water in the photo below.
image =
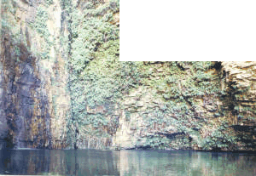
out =
[(0, 148), (255, 150), (256, 62), (120, 62), (118, 0), (0, 4)]

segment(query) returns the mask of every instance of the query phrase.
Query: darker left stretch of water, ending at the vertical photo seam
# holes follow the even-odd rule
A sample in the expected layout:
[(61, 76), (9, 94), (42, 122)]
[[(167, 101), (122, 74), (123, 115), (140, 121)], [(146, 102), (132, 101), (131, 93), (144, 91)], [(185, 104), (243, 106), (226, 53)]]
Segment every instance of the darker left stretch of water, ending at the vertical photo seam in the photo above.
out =
[(0, 150), (0, 174), (119, 175), (119, 151)]

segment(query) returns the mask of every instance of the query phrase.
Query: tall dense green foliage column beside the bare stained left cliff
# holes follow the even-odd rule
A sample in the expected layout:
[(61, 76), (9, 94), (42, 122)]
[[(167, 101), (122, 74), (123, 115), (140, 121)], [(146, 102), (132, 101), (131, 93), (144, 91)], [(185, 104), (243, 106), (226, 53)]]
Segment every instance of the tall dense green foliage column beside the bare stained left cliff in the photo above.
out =
[(84, 136), (80, 135), (81, 139), (86, 135), (109, 137), (103, 128), (114, 130), (118, 122), (115, 117), (107, 119), (106, 114), (88, 113), (87, 109), (94, 109), (98, 105), (113, 109), (121, 91), (132, 84), (130, 79), (126, 79), (128, 82), (123, 79), (126, 71), (123, 67), (131, 63), (119, 62), (119, 27), (112, 24), (113, 14), (119, 12), (119, 1), (104, 4), (89, 1), (79, 5), (83, 8), (73, 9), (70, 14), (72, 44), (69, 86), (73, 118), (69, 119), (69, 128), (75, 136), (74, 127), (79, 124), (79, 132), (84, 132)]

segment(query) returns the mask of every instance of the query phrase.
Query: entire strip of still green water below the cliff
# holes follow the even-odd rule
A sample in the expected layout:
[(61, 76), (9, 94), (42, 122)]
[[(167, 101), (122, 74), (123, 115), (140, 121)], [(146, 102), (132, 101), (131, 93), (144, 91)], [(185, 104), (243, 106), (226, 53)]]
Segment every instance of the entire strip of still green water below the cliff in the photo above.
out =
[(0, 174), (256, 175), (256, 155), (193, 150), (0, 150)]

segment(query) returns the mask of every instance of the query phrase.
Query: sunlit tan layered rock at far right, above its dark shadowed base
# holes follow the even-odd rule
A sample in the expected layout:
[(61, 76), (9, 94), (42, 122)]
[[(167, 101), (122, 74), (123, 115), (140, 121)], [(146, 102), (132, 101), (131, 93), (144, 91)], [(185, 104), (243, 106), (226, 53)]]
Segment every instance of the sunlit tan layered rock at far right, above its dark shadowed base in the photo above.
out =
[(256, 62), (255, 61), (223, 61), (227, 75), (225, 82), (232, 82), (233, 104), (236, 120), (241, 125), (255, 125), (256, 103)]

